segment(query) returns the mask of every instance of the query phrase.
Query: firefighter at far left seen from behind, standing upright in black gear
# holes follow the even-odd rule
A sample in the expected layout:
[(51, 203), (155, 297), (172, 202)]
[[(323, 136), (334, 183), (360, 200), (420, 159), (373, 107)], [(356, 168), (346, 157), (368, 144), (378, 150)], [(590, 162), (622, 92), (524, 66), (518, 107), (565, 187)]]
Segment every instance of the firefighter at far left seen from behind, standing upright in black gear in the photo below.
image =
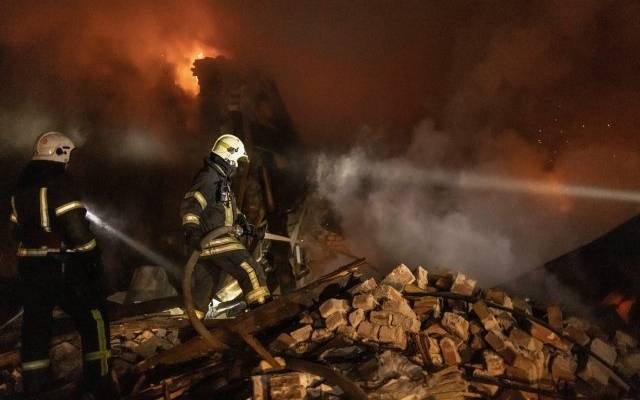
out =
[[(85, 398), (109, 382), (110, 336), (96, 239), (66, 172), (75, 148), (62, 133), (40, 135), (11, 196), (24, 307), (22, 373), (26, 397), (46, 389), (52, 311), (59, 305), (82, 337)], [(106, 383), (108, 385), (108, 383)]]

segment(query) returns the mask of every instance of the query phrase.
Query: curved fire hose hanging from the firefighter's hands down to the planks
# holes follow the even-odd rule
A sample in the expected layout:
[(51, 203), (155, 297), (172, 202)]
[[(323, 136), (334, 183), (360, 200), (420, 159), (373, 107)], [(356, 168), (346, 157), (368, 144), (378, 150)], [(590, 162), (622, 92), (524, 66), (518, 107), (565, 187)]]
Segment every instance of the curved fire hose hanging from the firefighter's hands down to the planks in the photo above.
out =
[[(219, 238), (220, 236), (235, 232), (233, 226), (223, 226), (218, 229), (214, 229), (209, 232), (201, 241), (200, 246), (204, 247), (210, 241)], [(184, 296), (184, 307), (189, 317), (189, 321), (193, 326), (193, 329), (214, 349), (228, 349), (229, 346), (214, 338), (206, 326), (200, 321), (196, 315), (195, 307), (193, 306), (193, 294), (191, 293), (191, 277), (193, 270), (195, 269), (198, 259), (200, 258), (201, 250), (194, 250), (184, 266), (184, 272), (182, 275), (182, 295)]]

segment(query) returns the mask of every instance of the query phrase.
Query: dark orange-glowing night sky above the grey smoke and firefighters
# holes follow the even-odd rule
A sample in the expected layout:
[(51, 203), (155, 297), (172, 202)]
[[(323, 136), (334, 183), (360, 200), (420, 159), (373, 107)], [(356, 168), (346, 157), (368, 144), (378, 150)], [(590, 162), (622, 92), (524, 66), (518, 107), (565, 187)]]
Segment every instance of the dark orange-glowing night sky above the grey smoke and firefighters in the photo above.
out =
[[(179, 192), (206, 149), (176, 70), (203, 50), (269, 73), (310, 148), (403, 154), (430, 120), (442, 165), (638, 188), (637, 21), (634, 1), (3, 1), (2, 183), (58, 129), (86, 140), (76, 173), (110, 176), (96, 202), (136, 176)], [(589, 210), (589, 234), (633, 213)]]

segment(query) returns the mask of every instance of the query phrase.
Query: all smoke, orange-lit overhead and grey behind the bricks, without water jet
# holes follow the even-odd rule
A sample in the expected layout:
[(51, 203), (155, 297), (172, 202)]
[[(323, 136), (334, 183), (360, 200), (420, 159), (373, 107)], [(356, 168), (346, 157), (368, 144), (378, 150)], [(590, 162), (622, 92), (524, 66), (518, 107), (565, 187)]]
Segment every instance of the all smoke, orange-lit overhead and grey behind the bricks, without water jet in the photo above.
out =
[(215, 135), (190, 65), (224, 54), (272, 76), (302, 141), (326, 150), (319, 187), (362, 253), (497, 279), (637, 210), (341, 168), (382, 161), (400, 175), (411, 165), (637, 189), (638, 20), (640, 5), (625, 0), (4, 1), (2, 201), (33, 139), (67, 132), (84, 143), (72, 172), (90, 200), (136, 221), (136, 239), (166, 245)]

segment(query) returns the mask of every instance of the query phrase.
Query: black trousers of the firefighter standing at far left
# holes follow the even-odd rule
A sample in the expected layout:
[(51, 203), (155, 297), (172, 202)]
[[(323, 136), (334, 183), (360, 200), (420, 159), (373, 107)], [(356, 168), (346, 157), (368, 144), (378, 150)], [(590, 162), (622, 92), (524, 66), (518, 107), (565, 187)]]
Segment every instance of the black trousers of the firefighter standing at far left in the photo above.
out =
[(48, 380), (52, 311), (60, 306), (74, 321), (82, 339), (84, 390), (108, 379), (109, 321), (105, 314), (102, 266), (61, 262), (53, 257), (18, 261), (22, 323), (24, 391), (38, 393)]

